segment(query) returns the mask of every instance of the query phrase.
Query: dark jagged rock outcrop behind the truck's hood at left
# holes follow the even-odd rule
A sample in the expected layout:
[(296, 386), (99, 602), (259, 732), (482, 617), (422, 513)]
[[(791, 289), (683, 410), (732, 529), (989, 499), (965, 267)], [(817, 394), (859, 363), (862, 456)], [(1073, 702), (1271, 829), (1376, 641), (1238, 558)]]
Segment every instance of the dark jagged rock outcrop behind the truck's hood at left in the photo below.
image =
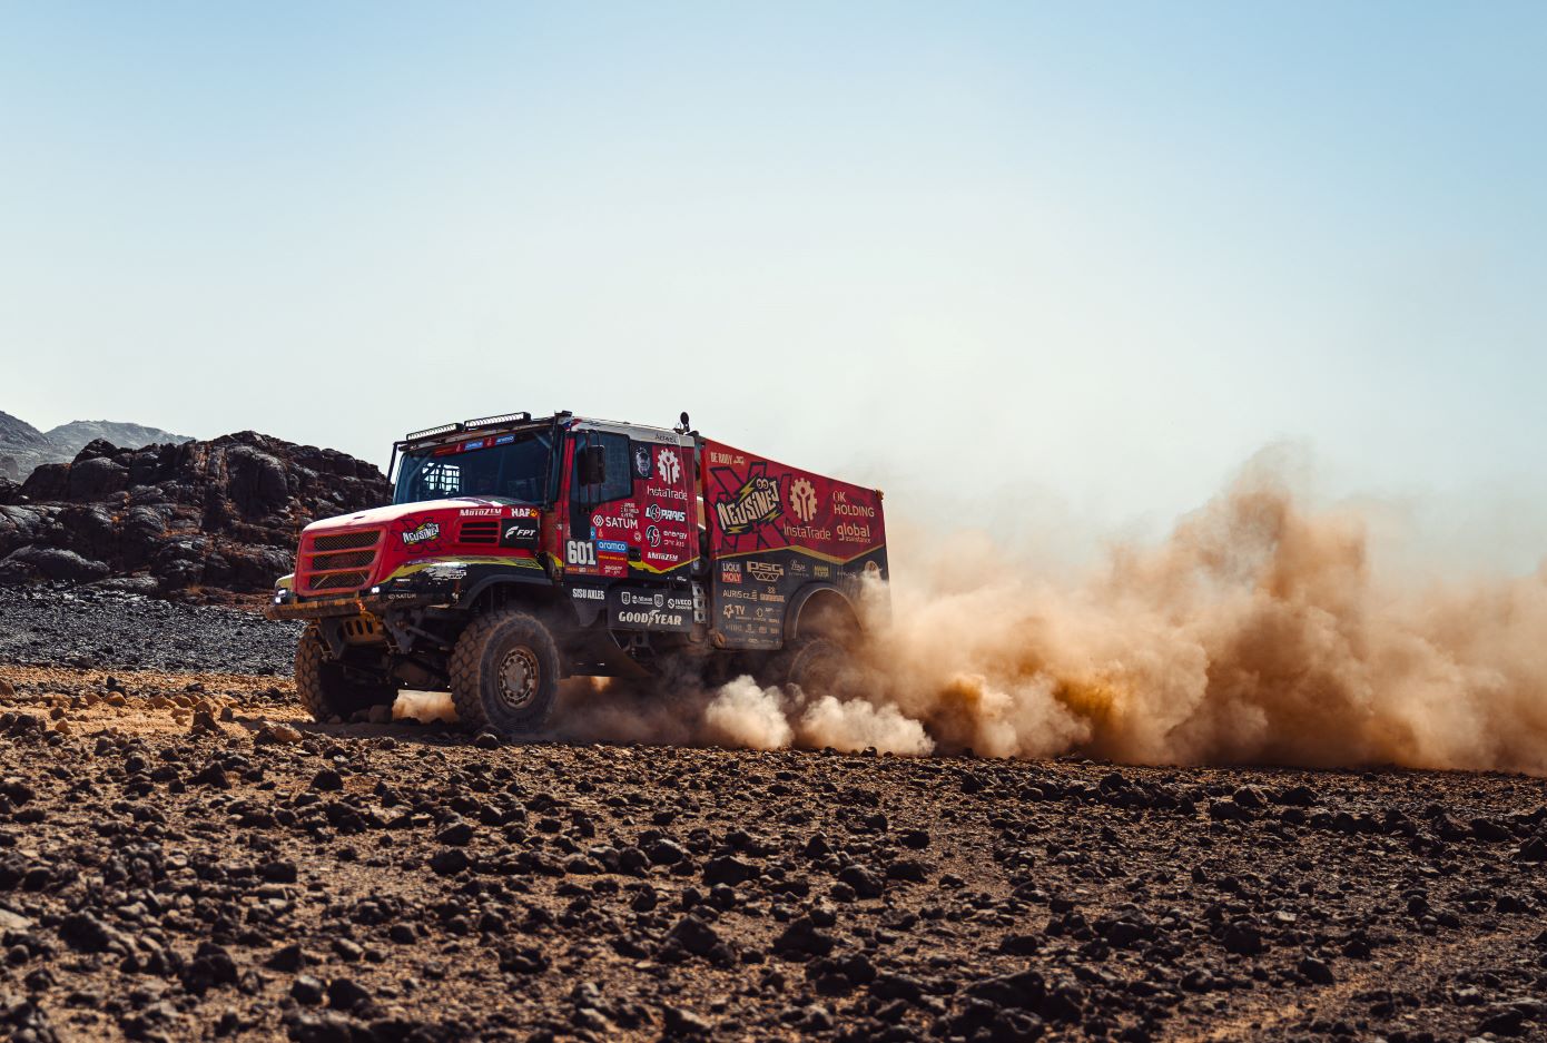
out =
[(0, 478), (0, 583), (266, 591), (306, 523), (390, 497), (373, 464), (255, 432), (142, 449), (97, 439), (22, 484)]

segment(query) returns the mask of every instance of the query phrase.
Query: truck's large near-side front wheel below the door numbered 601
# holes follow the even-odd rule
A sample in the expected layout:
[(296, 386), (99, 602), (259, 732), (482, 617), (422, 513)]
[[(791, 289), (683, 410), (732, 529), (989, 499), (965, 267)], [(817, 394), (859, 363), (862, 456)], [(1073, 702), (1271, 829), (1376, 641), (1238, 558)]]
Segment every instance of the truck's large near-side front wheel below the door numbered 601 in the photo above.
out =
[(517, 608), (473, 619), (452, 650), (452, 703), (473, 730), (532, 735), (558, 695), (558, 647), (548, 627)]

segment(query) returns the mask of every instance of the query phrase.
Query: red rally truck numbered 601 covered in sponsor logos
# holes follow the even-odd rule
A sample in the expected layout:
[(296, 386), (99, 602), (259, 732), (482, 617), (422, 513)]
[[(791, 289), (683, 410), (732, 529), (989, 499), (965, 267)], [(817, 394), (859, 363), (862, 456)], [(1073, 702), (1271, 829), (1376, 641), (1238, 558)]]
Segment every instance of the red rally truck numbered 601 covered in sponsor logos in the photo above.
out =
[(266, 608), (306, 624), (295, 689), (319, 721), (415, 689), (450, 692), (472, 729), (534, 734), (568, 676), (811, 692), (862, 638), (862, 591), (883, 599), (879, 489), (704, 438), (687, 413), (444, 424), (398, 441), (393, 474), (391, 504), (302, 531)]

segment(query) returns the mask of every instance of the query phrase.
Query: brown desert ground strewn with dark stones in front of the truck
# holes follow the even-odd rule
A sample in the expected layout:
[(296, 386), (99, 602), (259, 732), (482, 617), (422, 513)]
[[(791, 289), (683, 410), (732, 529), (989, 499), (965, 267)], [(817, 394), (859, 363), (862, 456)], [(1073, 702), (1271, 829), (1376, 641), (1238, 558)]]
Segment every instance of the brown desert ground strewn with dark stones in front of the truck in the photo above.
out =
[(1547, 1038), (1542, 780), (316, 726), (0, 599), (14, 1038)]

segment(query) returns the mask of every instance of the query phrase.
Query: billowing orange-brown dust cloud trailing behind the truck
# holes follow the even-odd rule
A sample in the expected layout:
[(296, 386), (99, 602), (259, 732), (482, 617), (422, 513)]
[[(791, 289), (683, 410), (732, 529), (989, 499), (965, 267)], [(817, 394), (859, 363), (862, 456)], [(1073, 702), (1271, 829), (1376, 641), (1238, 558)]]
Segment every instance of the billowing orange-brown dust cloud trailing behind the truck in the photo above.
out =
[(863, 684), (687, 678), (560, 707), (575, 738), (1146, 764), (1398, 764), (1547, 775), (1547, 565), (1414, 590), (1354, 511), (1304, 508), (1270, 463), (1156, 546), (1083, 577), (964, 534), (893, 556)]

